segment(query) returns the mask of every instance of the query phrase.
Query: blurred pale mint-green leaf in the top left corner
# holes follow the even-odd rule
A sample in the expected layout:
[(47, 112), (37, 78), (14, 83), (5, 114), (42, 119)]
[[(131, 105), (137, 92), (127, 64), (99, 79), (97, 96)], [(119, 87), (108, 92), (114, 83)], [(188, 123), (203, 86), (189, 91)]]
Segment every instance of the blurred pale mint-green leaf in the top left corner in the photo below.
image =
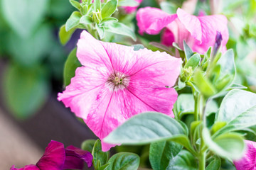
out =
[(48, 0), (3, 0), (1, 11), (11, 28), (22, 38), (28, 38), (43, 22)]

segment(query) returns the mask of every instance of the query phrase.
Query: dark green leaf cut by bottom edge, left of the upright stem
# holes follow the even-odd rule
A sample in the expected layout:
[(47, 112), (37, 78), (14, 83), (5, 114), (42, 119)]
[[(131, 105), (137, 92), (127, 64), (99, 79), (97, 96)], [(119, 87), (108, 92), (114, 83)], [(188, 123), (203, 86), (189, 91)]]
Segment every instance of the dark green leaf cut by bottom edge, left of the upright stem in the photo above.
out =
[(196, 158), (190, 152), (181, 150), (174, 159), (171, 159), (166, 170), (189, 169), (197, 170)]

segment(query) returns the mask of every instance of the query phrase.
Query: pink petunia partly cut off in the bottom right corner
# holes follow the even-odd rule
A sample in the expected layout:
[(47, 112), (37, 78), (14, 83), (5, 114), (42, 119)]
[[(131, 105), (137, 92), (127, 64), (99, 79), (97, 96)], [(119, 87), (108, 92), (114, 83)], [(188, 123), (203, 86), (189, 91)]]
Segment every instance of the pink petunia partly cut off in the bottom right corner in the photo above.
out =
[(234, 161), (237, 170), (256, 170), (256, 142), (245, 140), (247, 151), (242, 159)]

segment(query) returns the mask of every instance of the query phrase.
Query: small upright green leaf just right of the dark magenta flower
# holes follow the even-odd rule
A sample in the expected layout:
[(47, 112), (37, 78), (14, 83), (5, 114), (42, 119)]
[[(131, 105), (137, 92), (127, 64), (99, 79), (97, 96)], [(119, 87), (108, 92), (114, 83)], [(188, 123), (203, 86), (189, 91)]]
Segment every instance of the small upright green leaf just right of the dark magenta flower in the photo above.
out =
[[(105, 165), (110, 157), (110, 152), (103, 152), (100, 140), (96, 140), (92, 149), (92, 163), (94, 166), (97, 164)], [(99, 163), (100, 162), (100, 163)]]

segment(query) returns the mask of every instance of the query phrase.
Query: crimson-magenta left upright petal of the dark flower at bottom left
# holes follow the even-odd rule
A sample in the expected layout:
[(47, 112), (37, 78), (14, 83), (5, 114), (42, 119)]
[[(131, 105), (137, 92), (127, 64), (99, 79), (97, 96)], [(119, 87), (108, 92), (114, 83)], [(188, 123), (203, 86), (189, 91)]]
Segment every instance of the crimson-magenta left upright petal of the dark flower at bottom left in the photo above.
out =
[(39, 159), (36, 166), (38, 166), (40, 170), (62, 170), (64, 162), (64, 145), (60, 142), (52, 140), (48, 144), (48, 147), (46, 147), (46, 152), (43, 154), (43, 157)]

